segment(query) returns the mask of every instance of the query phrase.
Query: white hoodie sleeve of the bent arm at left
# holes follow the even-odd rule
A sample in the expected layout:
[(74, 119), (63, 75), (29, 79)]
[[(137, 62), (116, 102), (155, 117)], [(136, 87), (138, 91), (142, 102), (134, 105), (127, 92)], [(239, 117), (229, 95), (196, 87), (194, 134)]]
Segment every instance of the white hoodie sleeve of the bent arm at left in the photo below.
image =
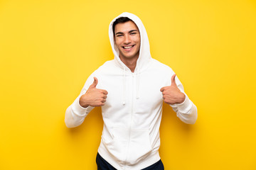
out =
[(90, 84), (92, 84), (92, 75), (87, 79), (85, 82), (85, 86), (82, 88), (80, 95), (75, 101), (67, 108), (65, 111), (65, 125), (68, 128), (75, 128), (83, 123), (85, 117), (92, 111), (94, 107), (88, 106), (87, 108), (83, 108), (80, 106), (79, 99), (80, 97), (85, 94), (87, 89), (89, 88)]

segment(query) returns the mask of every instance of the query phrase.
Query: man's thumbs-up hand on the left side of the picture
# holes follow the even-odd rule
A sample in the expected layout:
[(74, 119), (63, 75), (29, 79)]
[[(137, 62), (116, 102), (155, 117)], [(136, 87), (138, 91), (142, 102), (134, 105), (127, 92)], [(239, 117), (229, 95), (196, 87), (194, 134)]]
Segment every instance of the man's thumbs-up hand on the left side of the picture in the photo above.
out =
[(90, 85), (89, 89), (83, 94), (79, 103), (83, 108), (87, 108), (88, 106), (104, 106), (107, 98), (107, 91), (102, 89), (97, 89), (98, 80), (96, 77), (93, 77), (94, 81)]

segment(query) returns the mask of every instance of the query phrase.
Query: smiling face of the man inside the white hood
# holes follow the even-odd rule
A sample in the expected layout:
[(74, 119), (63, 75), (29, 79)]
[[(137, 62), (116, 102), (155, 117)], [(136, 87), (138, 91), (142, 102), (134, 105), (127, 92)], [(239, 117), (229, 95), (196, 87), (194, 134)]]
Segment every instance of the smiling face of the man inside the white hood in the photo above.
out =
[(114, 42), (119, 50), (119, 57), (129, 60), (139, 57), (139, 29), (133, 21), (117, 23), (114, 27)]

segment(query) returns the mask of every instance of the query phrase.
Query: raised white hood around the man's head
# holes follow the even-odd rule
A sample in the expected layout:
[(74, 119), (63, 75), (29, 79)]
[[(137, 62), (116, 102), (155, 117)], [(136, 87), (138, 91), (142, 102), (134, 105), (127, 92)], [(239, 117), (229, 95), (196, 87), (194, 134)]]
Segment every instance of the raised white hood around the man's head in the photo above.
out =
[(139, 33), (141, 37), (141, 45), (140, 45), (140, 50), (139, 50), (139, 59), (137, 60), (136, 68), (134, 70), (135, 73), (141, 72), (147, 64), (149, 64), (149, 61), (151, 60), (151, 55), (150, 55), (150, 49), (149, 49), (149, 38), (146, 34), (146, 29), (142, 23), (142, 21), (139, 19), (139, 17), (135, 16), (132, 13), (121, 13), (119, 16), (114, 18), (109, 27), (109, 36), (110, 36), (110, 44), (112, 46), (112, 50), (114, 53), (114, 60), (115, 62), (119, 65), (124, 70), (130, 70), (119, 58), (119, 50), (117, 46), (114, 44), (114, 33), (112, 30), (112, 25), (114, 21), (116, 21), (117, 18), (119, 17), (127, 17), (134, 21), (134, 23), (137, 25), (139, 28)]

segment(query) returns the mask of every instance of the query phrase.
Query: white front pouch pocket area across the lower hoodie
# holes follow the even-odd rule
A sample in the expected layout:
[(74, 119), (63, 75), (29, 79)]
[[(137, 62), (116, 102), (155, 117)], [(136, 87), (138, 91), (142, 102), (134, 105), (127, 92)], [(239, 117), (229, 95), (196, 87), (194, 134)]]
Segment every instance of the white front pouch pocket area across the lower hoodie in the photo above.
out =
[(152, 151), (149, 130), (111, 128), (102, 137), (107, 151), (119, 163), (137, 164)]

